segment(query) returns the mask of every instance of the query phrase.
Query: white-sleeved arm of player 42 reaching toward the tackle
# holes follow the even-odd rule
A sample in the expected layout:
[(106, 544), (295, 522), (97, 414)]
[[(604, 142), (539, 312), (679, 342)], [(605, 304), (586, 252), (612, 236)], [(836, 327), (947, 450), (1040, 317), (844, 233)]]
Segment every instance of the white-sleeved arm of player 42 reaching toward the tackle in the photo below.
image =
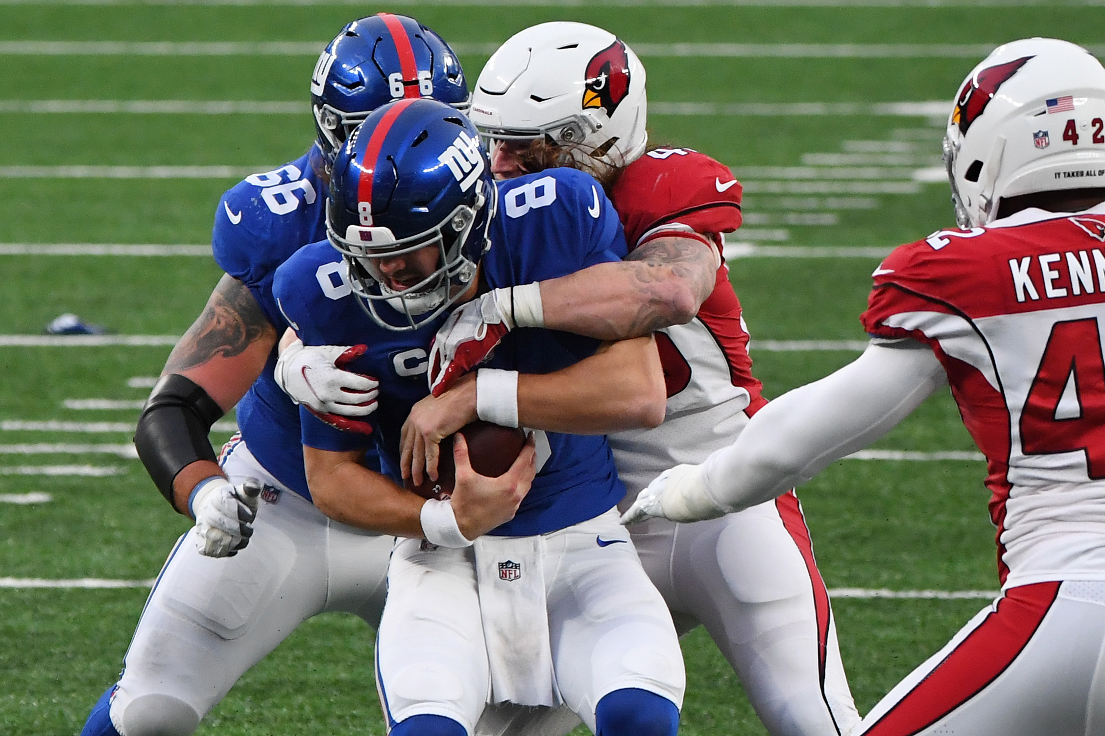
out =
[(855, 362), (760, 409), (704, 463), (707, 494), (732, 511), (768, 501), (875, 441), (944, 385), (927, 348), (871, 345)]

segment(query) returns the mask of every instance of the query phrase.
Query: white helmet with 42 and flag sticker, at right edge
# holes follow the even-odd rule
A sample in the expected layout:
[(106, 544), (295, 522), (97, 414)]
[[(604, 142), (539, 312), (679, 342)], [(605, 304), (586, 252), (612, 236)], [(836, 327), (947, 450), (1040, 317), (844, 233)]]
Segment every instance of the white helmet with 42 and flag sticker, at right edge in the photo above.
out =
[(944, 162), (960, 227), (997, 218), (1002, 198), (1105, 186), (1105, 68), (1082, 46), (1024, 39), (964, 81)]

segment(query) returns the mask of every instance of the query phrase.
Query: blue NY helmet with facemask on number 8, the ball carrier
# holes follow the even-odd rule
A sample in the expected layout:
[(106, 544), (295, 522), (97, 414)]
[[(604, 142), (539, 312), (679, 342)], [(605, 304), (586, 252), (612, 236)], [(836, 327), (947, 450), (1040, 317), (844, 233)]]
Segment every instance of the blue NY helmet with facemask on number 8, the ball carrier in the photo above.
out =
[[(389, 330), (417, 330), (472, 286), (497, 202), (476, 127), (443, 103), (401, 99), (370, 114), (338, 152), (326, 234), (368, 314)], [(432, 273), (389, 287), (383, 262), (431, 246)]]

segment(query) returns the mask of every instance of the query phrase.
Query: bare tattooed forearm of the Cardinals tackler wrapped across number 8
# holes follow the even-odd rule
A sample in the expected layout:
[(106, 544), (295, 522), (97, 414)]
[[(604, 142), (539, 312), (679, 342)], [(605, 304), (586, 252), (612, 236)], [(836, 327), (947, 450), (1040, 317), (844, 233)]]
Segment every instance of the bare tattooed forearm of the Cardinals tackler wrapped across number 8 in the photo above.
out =
[(717, 250), (697, 239), (657, 237), (621, 263), (541, 281), (545, 327), (624, 340), (691, 321), (714, 290)]

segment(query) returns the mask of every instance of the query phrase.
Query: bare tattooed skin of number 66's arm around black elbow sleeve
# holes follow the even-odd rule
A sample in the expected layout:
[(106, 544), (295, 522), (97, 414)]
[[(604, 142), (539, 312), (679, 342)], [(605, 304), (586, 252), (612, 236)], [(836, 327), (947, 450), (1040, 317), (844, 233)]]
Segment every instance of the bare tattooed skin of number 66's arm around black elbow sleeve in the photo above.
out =
[[(245, 285), (223, 275), (203, 312), (172, 349), (161, 375), (189, 378), (225, 412), (261, 375), (277, 337)], [(186, 466), (172, 482), (176, 508), (188, 508), (188, 494), (198, 481), (221, 474), (219, 466), (207, 460)]]

